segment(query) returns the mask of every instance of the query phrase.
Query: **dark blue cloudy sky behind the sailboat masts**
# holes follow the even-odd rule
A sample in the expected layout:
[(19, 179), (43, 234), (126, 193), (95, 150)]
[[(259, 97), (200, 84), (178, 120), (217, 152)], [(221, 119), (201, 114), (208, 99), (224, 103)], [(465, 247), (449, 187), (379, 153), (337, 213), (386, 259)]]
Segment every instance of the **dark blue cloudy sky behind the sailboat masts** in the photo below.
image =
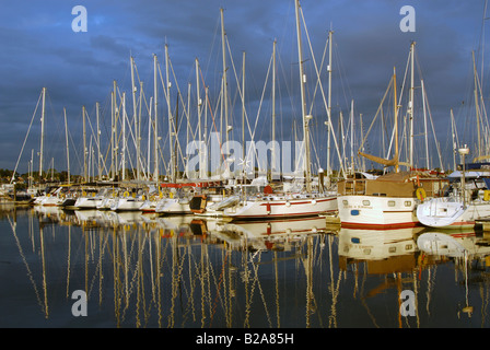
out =
[[(72, 22), (77, 18), (77, 14), (72, 14), (72, 9), (80, 4), (88, 12), (86, 32), (72, 30)], [(488, 31), (483, 26), (483, 19), (487, 16), (485, 0), (303, 0), (301, 4), (313, 49), (312, 54), (308, 38), (304, 35), (305, 67), (312, 66), (314, 61), (318, 67), (323, 65), (320, 75), (324, 85), (327, 82), (327, 61), (322, 60), (322, 57), (328, 31), (334, 31), (331, 105), (332, 118), (337, 118), (332, 121), (337, 126), (339, 113), (343, 110), (348, 115), (353, 100), (355, 116), (362, 115), (364, 129), (368, 128), (386, 91), (394, 67), (401, 84), (410, 43), (416, 42), (417, 71), (421, 72), (424, 80), (444, 162), (452, 163), (451, 108), (454, 109), (459, 126), (460, 142), (475, 142), (475, 122), (466, 120), (474, 115), (471, 52), (475, 50), (479, 74), (481, 67), (485, 70), (485, 62), (490, 58), (490, 55), (485, 55), (485, 42), (490, 38), (490, 33), (486, 33)], [(416, 11), (415, 32), (400, 30), (400, 22), (405, 18), (400, 14), (400, 9), (407, 4)], [(270, 139), (270, 114), (267, 116), (271, 108), (269, 65), (272, 43), (277, 40), (277, 91), (278, 100), (281, 101), (277, 102), (277, 132), (291, 140), (293, 127), (301, 119), (300, 105), (294, 97), (299, 93), (299, 74), (293, 0), (3, 1), (0, 12), (0, 167), (14, 168), (33, 120), (19, 171), (27, 171), (32, 153), (34, 167), (38, 168), (40, 106), (37, 110), (36, 106), (43, 88), (47, 89), (44, 168), (50, 167), (51, 159), (57, 170), (67, 168), (63, 108), (67, 109), (70, 130), (72, 172), (77, 172), (77, 168), (80, 171), (82, 164), (82, 106), (85, 106), (92, 128), (95, 128), (95, 103), (101, 104), (101, 145), (106, 150), (114, 81), (120, 93), (126, 92), (128, 115), (132, 116), (131, 56), (135, 58), (138, 80), (143, 82), (142, 101), (145, 102), (141, 127), (144, 130), (142, 140), (147, 142), (148, 108), (144, 106), (150, 103), (153, 94), (153, 54), (158, 56), (159, 67), (165, 79), (165, 44), (168, 45), (173, 77), (175, 74), (175, 81), (173, 77), (171, 79), (172, 110), (175, 113), (177, 108), (178, 90), (182, 98), (180, 115), (183, 108), (189, 108), (189, 122), (195, 127), (196, 104), (187, 106), (187, 98), (196, 98), (197, 58), (218, 119), (217, 106), (222, 78), (221, 8), (224, 9), (230, 47), (226, 72), (229, 101), (233, 106), (231, 109), (241, 106), (237, 85), (241, 84), (242, 58), (245, 52), (247, 119), (256, 139)], [(315, 89), (312, 67), (310, 70), (305, 68), (307, 72), (312, 72), (308, 75), (310, 95), (314, 94)], [(485, 81), (488, 77), (485, 73), (479, 77), (482, 79), (485, 97)], [(162, 95), (159, 100), (163, 101), (161, 88), (160, 93)], [(159, 114), (164, 130), (167, 128), (163, 119), (166, 118), (166, 105), (162, 103), (161, 108)], [(233, 138), (241, 140), (241, 113), (236, 110), (231, 117)], [(322, 110), (322, 106), (318, 106), (312, 110), (314, 118), (317, 118), (313, 135), (317, 142), (314, 162), (325, 166), (322, 164), (326, 150), (323, 124), (325, 109)], [(359, 121), (354, 124), (359, 126)], [(88, 130), (91, 133), (90, 127)], [(165, 132), (162, 131), (162, 142), (167, 138)], [(186, 132), (182, 131), (180, 136), (185, 138)]]

